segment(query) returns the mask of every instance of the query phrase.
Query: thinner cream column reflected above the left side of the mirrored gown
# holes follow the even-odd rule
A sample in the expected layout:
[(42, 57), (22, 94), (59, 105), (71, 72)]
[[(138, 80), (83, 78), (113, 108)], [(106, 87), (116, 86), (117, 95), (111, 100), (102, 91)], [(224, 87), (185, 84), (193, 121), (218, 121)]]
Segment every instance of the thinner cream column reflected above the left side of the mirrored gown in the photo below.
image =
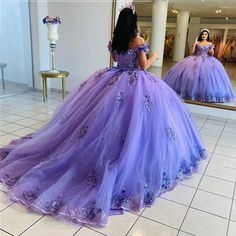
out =
[(184, 58), (188, 21), (189, 12), (180, 11), (177, 15), (173, 61), (180, 61)]

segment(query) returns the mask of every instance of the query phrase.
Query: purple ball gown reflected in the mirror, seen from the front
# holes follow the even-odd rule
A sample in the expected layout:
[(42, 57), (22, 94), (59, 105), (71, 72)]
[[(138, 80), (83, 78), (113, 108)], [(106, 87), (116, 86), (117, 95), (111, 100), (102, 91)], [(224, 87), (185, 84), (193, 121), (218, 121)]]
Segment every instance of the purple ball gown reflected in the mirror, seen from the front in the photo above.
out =
[(229, 76), (221, 62), (208, 55), (214, 45), (197, 44), (195, 55), (176, 63), (164, 81), (182, 98), (202, 102), (229, 102), (234, 98)]

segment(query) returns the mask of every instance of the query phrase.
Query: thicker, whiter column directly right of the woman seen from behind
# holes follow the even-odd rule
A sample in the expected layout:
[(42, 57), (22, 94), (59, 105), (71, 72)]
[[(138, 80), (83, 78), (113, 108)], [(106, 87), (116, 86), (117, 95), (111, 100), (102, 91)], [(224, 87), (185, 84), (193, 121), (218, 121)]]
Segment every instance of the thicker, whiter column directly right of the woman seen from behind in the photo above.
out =
[(168, 0), (153, 0), (151, 52), (157, 52), (159, 58), (153, 67), (162, 67), (163, 64), (167, 12)]

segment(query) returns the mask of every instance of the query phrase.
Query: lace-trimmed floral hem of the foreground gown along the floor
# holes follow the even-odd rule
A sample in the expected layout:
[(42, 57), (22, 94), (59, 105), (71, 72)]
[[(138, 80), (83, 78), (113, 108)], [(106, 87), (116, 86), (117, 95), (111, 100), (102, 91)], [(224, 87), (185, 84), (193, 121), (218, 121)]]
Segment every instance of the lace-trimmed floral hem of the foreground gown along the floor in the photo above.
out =
[[(145, 194), (143, 195), (142, 201), (137, 202), (137, 198), (128, 198), (124, 194), (119, 196), (114, 196), (111, 200), (110, 212), (107, 214), (101, 208), (95, 207), (95, 205), (90, 206), (88, 208), (78, 208), (78, 209), (68, 209), (66, 203), (60, 199), (54, 200), (50, 202), (50, 204), (38, 203), (34, 201), (32, 203), (27, 202), (27, 200), (23, 199), (23, 197), (17, 196), (18, 194), (14, 192), (13, 186), (8, 186), (7, 182), (4, 182), (1, 179), (1, 184), (6, 188), (6, 192), (9, 194), (11, 200), (14, 202), (21, 203), (25, 205), (27, 208), (47, 215), (52, 215), (56, 218), (64, 218), (73, 223), (77, 224), (88, 224), (93, 226), (103, 227), (107, 224), (109, 215), (118, 215), (124, 214), (125, 211), (135, 211), (138, 212), (140, 209), (144, 207), (150, 207), (154, 204), (157, 197), (160, 197), (163, 193), (174, 189), (174, 187), (185, 179), (189, 179), (193, 173), (197, 172), (199, 161), (206, 159), (207, 155), (204, 149), (199, 150), (199, 158), (193, 159), (191, 164), (181, 166), (179, 169), (178, 175), (175, 178), (170, 178), (166, 176), (166, 173), (163, 173), (163, 181), (162, 187), (159, 190), (150, 190), (147, 188)], [(29, 196), (28, 196), (29, 197)], [(34, 195), (30, 195), (30, 197), (34, 197)], [(36, 199), (36, 196), (35, 196)], [(34, 199), (34, 200), (35, 200)], [(32, 200), (32, 199), (31, 199)]]

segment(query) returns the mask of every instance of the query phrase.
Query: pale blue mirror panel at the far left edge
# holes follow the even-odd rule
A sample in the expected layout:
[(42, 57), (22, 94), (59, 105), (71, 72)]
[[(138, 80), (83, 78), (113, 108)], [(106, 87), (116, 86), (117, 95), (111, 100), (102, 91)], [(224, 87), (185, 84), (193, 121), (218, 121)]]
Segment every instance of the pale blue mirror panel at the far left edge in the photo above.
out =
[(28, 1), (0, 1), (0, 98), (32, 90)]

